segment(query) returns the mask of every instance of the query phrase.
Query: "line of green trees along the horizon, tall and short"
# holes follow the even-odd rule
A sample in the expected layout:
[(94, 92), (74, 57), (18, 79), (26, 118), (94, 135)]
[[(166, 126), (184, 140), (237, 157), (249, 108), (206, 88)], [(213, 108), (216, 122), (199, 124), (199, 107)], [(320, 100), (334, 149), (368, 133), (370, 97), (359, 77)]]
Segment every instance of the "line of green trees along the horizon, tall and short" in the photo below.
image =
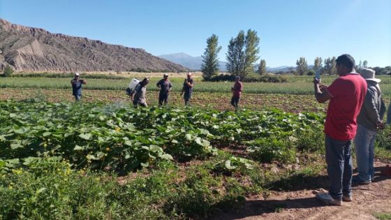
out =
[[(257, 32), (249, 29), (248, 31), (239, 31), (239, 34), (235, 38), (231, 38), (228, 43), (228, 51), (226, 53), (226, 69), (231, 75), (239, 75), (240, 78), (245, 79), (247, 76), (258, 73), (259, 75), (266, 75), (266, 61), (260, 59), (258, 64), (258, 71), (255, 71), (255, 63), (260, 58), (258, 56), (260, 52), (259, 48), (260, 38)], [(221, 51), (219, 46), (219, 38), (215, 34), (207, 38), (207, 47), (204, 54), (202, 54), (202, 76), (205, 80), (211, 80), (219, 73), (219, 57), (218, 54)], [(367, 68), (368, 61), (360, 61), (355, 69)], [(322, 59), (316, 57), (313, 61), (313, 66), (310, 68), (305, 57), (300, 57), (296, 61), (296, 71), (293, 69), (291, 73), (297, 75), (314, 75), (315, 71), (321, 69), (321, 75), (337, 75), (336, 57), (327, 57)], [(385, 68), (374, 67), (376, 74), (385, 74), (391, 71), (390, 66)]]

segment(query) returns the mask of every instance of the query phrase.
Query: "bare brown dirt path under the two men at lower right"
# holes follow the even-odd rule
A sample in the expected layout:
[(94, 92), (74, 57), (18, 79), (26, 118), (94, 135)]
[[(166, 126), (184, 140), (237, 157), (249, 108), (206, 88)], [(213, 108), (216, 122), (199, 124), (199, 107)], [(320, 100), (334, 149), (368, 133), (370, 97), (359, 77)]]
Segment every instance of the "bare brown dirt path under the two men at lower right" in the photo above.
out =
[[(341, 207), (316, 200), (313, 189), (273, 192), (246, 199), (242, 210), (219, 214), (216, 219), (376, 219), (374, 212), (391, 213), (391, 177), (381, 175), (385, 163), (376, 162), (376, 176), (369, 185), (353, 184), (353, 202)], [(324, 178), (327, 184), (327, 178)]]

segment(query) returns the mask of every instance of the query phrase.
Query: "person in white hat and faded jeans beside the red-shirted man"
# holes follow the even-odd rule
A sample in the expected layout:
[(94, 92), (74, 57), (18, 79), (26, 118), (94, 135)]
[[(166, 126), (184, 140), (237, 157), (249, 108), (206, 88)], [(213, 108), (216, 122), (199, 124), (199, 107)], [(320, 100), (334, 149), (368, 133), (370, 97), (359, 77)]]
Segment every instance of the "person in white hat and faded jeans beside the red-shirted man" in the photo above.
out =
[(367, 94), (357, 117), (357, 133), (355, 144), (357, 175), (352, 182), (369, 184), (374, 179), (374, 142), (379, 129), (384, 129), (383, 115), (385, 103), (381, 98), (378, 85), (380, 79), (375, 78), (375, 71), (370, 68), (360, 70), (360, 75), (367, 81)]

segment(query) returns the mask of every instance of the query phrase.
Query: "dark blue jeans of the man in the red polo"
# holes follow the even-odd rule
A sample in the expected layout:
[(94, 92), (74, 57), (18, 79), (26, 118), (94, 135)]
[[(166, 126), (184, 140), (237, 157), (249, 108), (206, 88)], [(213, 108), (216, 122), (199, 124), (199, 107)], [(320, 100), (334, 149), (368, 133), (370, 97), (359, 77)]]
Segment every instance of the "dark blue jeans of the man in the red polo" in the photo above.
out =
[(341, 200), (352, 193), (351, 140), (335, 140), (325, 135), (327, 174), (330, 178), (330, 196)]

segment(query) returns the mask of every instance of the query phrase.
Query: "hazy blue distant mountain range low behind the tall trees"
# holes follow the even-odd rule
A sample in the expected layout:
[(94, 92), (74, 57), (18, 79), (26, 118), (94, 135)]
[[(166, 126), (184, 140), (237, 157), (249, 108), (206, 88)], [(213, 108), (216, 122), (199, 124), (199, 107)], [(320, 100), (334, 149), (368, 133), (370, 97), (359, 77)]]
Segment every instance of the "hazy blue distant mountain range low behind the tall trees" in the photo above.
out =
[[(175, 64), (179, 64), (182, 66), (185, 66), (186, 68), (189, 68), (193, 71), (199, 71), (202, 64), (202, 57), (192, 57), (189, 54), (186, 54), (184, 52), (178, 52), (174, 54), (163, 54), (158, 57), (161, 57), (163, 59), (167, 59), (168, 61), (172, 61)], [(219, 70), (220, 71), (226, 71), (226, 61), (219, 61)], [(290, 71), (290, 68), (295, 69), (291, 66), (279, 66), (279, 67), (266, 67), (267, 71), (270, 72), (288, 72)]]

